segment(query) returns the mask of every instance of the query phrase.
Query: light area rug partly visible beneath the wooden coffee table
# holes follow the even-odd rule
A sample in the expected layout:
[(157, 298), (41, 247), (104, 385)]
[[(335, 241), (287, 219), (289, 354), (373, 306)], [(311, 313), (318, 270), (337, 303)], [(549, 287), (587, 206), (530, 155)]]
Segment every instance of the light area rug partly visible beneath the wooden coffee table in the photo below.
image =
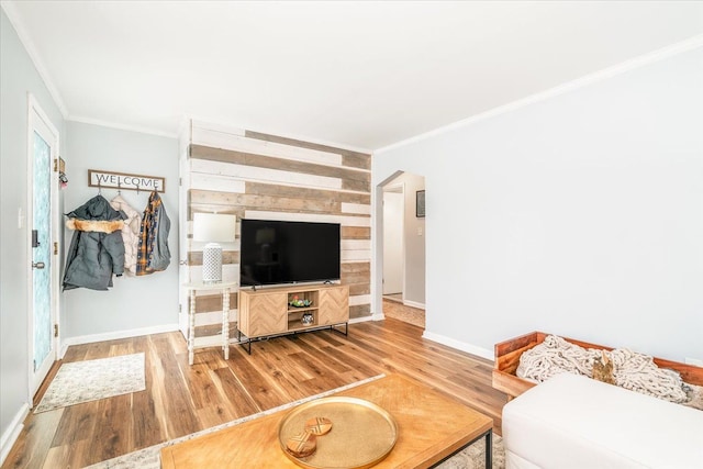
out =
[[(346, 389), (355, 388), (360, 384), (365, 384), (367, 382), (375, 381), (377, 379), (383, 378), (386, 375), (379, 375), (372, 378), (368, 378), (361, 381), (354, 382), (352, 384), (344, 386), (342, 388), (336, 388), (331, 391), (326, 391), (320, 394), (311, 395), (305, 399), (301, 399), (295, 402), (291, 402), (288, 404), (279, 405), (278, 407), (269, 409), (268, 411), (259, 412), (257, 414), (248, 415), (246, 417), (237, 418), (232, 422), (224, 423), (222, 425), (213, 426), (211, 428), (205, 428), (200, 432), (192, 433), (190, 435), (181, 436), (180, 438), (171, 439), (169, 442), (165, 442), (158, 445), (149, 446), (148, 448), (140, 449), (134, 453), (130, 453), (124, 456), (119, 456), (113, 459), (108, 459), (107, 461), (98, 462), (92, 466), (89, 466), (86, 469), (159, 469), (161, 467), (160, 461), (160, 451), (161, 448), (167, 446), (172, 446), (178, 443), (186, 442), (188, 439), (197, 438), (202, 435), (208, 435), (213, 432), (219, 432), (223, 428), (228, 428), (234, 425), (239, 425), (242, 423), (252, 421), (254, 418), (258, 418), (264, 415), (269, 415), (275, 412), (279, 412), (286, 409), (294, 407), (295, 405), (300, 405), (304, 402), (312, 401), (314, 399), (324, 398), (326, 395), (334, 394), (339, 391), (344, 391)], [(464, 451), (448, 459), (439, 467), (443, 469), (479, 469), (483, 468), (483, 461), (486, 460), (484, 455), (484, 439), (477, 442), (470, 447), (466, 448)], [(503, 444), (500, 436), (494, 436), (493, 438), (493, 468), (494, 469), (503, 469), (504, 465), (504, 456), (503, 456)]]

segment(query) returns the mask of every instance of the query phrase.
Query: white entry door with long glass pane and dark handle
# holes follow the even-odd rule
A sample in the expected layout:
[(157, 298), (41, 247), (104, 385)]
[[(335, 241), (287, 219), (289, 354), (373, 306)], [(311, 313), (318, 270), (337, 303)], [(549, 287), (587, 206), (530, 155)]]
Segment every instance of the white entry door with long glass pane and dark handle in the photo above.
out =
[(58, 132), (32, 96), (27, 132), (30, 402), (57, 359)]

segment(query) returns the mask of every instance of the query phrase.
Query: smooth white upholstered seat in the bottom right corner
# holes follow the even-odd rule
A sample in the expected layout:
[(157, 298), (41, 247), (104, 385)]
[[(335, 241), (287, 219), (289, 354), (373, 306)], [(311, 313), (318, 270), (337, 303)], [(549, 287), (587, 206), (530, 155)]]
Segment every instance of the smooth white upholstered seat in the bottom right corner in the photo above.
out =
[(703, 411), (558, 375), (503, 407), (506, 469), (703, 468)]

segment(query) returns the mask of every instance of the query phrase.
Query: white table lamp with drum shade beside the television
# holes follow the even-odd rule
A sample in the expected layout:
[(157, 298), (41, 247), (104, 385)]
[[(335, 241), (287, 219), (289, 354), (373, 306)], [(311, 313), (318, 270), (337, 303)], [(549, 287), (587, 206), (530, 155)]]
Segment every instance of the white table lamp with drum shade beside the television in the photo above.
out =
[(193, 215), (193, 241), (208, 243), (202, 249), (203, 283), (222, 281), (222, 246), (219, 243), (234, 243), (235, 226), (235, 215), (217, 213)]

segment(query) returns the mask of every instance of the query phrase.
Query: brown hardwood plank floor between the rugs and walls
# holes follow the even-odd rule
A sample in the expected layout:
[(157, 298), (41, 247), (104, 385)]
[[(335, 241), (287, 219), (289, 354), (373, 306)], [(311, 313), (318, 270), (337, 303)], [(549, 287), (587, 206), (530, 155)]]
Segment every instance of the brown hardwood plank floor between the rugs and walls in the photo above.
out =
[(422, 338), (387, 319), (196, 351), (180, 333), (69, 347), (64, 362), (144, 351), (146, 391), (30, 414), (2, 468), (80, 468), (379, 373), (400, 372), (491, 416), (500, 434), (505, 394), (492, 362)]

